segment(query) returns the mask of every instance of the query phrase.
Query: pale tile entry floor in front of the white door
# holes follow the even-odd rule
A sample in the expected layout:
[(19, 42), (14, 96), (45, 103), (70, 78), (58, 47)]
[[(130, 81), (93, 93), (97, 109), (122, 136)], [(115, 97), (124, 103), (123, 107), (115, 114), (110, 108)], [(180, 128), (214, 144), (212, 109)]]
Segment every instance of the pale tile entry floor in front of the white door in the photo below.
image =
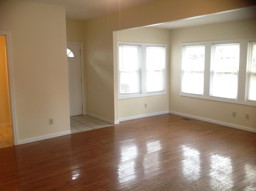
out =
[(93, 129), (110, 126), (113, 126), (113, 124), (102, 121), (101, 119), (97, 119), (90, 115), (78, 115), (70, 117), (71, 133), (79, 133), (82, 131), (90, 131)]

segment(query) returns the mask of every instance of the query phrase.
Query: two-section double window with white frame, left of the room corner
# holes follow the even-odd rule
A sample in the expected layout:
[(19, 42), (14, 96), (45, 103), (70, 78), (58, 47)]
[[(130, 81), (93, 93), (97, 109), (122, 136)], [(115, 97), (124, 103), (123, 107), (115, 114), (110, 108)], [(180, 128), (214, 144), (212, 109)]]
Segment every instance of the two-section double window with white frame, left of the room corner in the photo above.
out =
[(118, 43), (119, 99), (166, 94), (166, 45)]

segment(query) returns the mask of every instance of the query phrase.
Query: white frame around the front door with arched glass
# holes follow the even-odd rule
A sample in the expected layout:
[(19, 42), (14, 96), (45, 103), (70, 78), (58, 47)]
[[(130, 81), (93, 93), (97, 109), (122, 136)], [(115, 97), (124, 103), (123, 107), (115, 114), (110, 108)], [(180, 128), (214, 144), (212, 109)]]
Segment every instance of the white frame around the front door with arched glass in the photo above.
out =
[(82, 105), (83, 105), (83, 108), (82, 108), (82, 115), (86, 115), (86, 110), (85, 110), (85, 101), (84, 101), (84, 57), (83, 57), (83, 43), (82, 42), (70, 42), (68, 41), (67, 42), (67, 48), (68, 48), (68, 44), (79, 44), (80, 45), (80, 63), (81, 63), (81, 78), (82, 78)]

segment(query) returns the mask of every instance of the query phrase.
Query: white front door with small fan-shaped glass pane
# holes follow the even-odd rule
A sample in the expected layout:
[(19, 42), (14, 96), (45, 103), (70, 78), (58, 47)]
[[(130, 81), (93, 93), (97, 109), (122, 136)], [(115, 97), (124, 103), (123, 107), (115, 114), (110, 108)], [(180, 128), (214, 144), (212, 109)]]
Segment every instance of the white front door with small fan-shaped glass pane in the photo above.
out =
[(81, 48), (80, 44), (67, 47), (70, 116), (82, 115)]

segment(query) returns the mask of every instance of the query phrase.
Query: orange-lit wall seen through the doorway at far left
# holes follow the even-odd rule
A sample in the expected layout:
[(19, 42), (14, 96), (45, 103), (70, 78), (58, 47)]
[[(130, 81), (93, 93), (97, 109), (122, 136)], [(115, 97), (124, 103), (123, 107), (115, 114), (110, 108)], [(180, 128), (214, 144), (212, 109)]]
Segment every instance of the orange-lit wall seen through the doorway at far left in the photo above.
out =
[(7, 78), (6, 40), (0, 35), (0, 127), (10, 125), (10, 106)]

